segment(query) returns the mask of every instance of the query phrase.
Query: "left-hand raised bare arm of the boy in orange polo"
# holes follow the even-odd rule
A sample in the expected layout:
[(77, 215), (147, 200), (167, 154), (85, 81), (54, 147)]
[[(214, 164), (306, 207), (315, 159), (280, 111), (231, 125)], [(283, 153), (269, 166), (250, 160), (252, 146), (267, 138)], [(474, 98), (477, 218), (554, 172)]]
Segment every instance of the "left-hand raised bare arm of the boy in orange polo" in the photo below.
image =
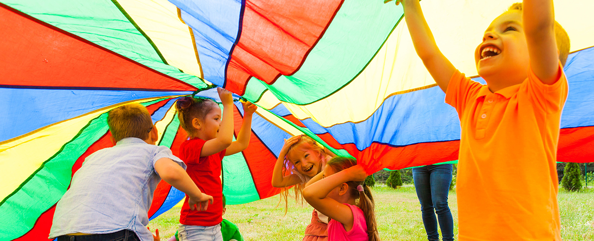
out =
[[(387, 0), (384, 2), (389, 2)], [(425, 68), (445, 92), (450, 78), (456, 72), (454, 65), (441, 53), (435, 43), (431, 29), (425, 21), (419, 0), (396, 0), (396, 5), (402, 3), (405, 10), (406, 25), (408, 26), (416, 54), (423, 61)]]

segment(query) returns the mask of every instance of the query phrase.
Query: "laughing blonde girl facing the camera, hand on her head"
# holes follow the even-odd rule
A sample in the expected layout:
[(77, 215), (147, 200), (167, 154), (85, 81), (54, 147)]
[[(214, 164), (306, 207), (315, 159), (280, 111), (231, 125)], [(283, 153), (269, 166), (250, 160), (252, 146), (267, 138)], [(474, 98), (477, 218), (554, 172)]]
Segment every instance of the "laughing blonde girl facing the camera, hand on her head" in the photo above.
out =
[[(280, 150), (279, 158), (272, 173), (272, 186), (286, 188), (295, 185), (295, 198), (299, 198), (305, 183), (315, 175), (321, 173), (326, 166), (326, 161), (336, 156), (327, 151), (307, 135), (296, 135), (285, 140), (285, 145)], [(286, 175), (285, 175), (286, 174)], [(285, 189), (282, 196), (285, 198), (285, 211), (289, 189)], [(311, 223), (305, 228), (303, 241), (328, 240), (328, 217), (313, 211)]]

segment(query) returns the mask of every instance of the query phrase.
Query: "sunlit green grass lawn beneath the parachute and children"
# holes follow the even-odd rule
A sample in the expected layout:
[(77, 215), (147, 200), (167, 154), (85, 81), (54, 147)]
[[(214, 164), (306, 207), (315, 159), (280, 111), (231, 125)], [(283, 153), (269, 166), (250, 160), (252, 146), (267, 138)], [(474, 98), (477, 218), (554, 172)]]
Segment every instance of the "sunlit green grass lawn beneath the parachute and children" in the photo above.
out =
[[(421, 205), (413, 186), (405, 185), (399, 189), (376, 186), (373, 192), (382, 240), (427, 240)], [(594, 241), (594, 189), (577, 193), (561, 190), (558, 199), (563, 240)], [(456, 192), (450, 192), (449, 203), (457, 240)], [(285, 215), (285, 204), (277, 204), (278, 195), (248, 204), (228, 205), (223, 218), (237, 224), (245, 240), (301, 240), (305, 226), (311, 221), (313, 209), (308, 204), (301, 206), (293, 200), (289, 202)], [(163, 241), (175, 233), (179, 209), (172, 208), (150, 222), (151, 230), (159, 229)]]

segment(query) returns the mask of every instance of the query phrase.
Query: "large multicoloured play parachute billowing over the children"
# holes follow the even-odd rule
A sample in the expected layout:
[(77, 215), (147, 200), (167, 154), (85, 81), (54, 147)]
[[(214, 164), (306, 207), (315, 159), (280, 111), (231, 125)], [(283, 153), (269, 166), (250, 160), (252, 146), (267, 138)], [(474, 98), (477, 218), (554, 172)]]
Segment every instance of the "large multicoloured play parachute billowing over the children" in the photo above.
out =
[[(485, 27), (513, 2), (421, 4), (445, 56), (472, 76)], [(559, 161), (594, 157), (590, 9), (591, 1), (555, 4), (573, 51)], [(402, 8), (380, 0), (0, 0), (0, 33), (0, 240), (48, 237), (72, 174), (111, 145), (110, 109), (144, 104), (159, 145), (176, 153), (185, 132), (173, 102), (217, 99), (214, 85), (260, 106), (248, 150), (223, 160), (230, 204), (279, 192), (271, 168), (295, 134), (369, 172), (457, 158), (456, 112), (416, 56)], [(160, 183), (149, 216), (182, 196)]]

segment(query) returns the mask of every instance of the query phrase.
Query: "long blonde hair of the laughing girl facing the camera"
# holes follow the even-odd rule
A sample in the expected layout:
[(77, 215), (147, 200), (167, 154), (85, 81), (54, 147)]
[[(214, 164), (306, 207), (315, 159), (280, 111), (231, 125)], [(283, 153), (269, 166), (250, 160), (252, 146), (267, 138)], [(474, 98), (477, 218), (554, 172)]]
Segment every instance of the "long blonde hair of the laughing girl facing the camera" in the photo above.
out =
[[(318, 142), (316, 142), (314, 139), (312, 139), (311, 137), (308, 137), (307, 135), (302, 135), (301, 139), (299, 139), (299, 141), (295, 142), (295, 144), (291, 145), (289, 147), (289, 151), (287, 151), (287, 156), (289, 156), (289, 153), (292, 150), (314, 150), (318, 153), (318, 157), (320, 158), (320, 160), (322, 160), (323, 158), (326, 158), (327, 154), (326, 152), (324, 152), (324, 148), (318, 144)], [(293, 166), (293, 163), (289, 160), (289, 158), (287, 158), (287, 156), (285, 156), (285, 162), (283, 163), (283, 173), (285, 175), (290, 175), (293, 172), (295, 172), (295, 170), (293, 169), (295, 166)], [(320, 163), (322, 164), (322, 163)], [(295, 184), (295, 186), (293, 187), (293, 191), (295, 192), (295, 201), (298, 201), (301, 205), (304, 204), (304, 199), (303, 196), (301, 195), (301, 192), (303, 191), (303, 189), (305, 188), (305, 183), (297, 183)], [(285, 214), (287, 214), (287, 209), (289, 206), (289, 199), (288, 197), (289, 195), (289, 189), (285, 187), (285, 191), (280, 192), (280, 201), (285, 201)]]

